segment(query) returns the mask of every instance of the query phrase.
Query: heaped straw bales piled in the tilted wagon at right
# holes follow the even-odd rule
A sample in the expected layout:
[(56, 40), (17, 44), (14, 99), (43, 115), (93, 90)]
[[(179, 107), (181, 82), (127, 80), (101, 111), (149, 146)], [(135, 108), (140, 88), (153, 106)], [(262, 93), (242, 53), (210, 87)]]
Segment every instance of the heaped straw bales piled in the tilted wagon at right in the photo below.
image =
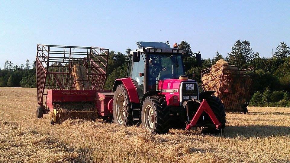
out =
[(202, 87), (205, 91), (214, 90), (224, 103), (226, 111), (244, 112), (250, 96), (252, 80), (246, 71), (230, 66), (223, 59), (201, 74)]

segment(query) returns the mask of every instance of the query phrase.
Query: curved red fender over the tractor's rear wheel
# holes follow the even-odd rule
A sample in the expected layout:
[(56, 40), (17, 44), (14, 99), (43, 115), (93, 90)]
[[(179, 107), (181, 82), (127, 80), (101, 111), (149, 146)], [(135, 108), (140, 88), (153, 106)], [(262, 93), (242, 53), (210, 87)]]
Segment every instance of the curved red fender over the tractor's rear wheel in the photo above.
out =
[(122, 81), (122, 83), (124, 84), (125, 88), (128, 91), (128, 95), (131, 102), (140, 103), (137, 88), (130, 77), (116, 80)]

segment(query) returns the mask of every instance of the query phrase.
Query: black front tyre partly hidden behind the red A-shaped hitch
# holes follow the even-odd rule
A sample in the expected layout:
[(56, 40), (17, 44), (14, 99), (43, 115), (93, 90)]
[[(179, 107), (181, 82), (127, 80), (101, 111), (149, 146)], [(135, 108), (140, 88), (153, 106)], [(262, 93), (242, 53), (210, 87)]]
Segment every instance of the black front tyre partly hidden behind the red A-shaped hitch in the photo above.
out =
[[(224, 132), (225, 123), (226, 123), (226, 113), (224, 111), (224, 105), (216, 96), (208, 96), (205, 98), (208, 105), (211, 107), (211, 110), (214, 112), (214, 115), (217, 117), (218, 121), (221, 123), (221, 127), (217, 130), (215, 127), (197, 127), (197, 131), (199, 133), (211, 133), (211, 134), (219, 134)], [(206, 118), (211, 121), (209, 116)], [(211, 121), (211, 123), (213, 123)]]

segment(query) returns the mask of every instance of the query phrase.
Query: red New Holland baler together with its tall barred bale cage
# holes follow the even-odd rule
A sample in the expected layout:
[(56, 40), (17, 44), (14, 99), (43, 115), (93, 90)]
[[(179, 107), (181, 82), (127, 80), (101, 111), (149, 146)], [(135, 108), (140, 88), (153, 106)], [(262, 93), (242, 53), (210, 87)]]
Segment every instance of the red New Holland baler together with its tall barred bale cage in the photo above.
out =
[(67, 118), (112, 119), (104, 90), (109, 49), (37, 44), (37, 118), (50, 123)]

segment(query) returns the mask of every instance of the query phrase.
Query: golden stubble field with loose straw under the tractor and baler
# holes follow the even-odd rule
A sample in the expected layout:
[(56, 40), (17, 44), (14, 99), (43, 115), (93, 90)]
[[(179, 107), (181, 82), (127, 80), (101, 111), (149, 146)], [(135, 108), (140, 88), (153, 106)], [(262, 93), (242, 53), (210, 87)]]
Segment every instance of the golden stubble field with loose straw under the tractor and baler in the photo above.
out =
[(36, 118), (36, 89), (0, 87), (0, 163), (4, 162), (290, 162), (290, 108), (227, 113), (223, 135)]

